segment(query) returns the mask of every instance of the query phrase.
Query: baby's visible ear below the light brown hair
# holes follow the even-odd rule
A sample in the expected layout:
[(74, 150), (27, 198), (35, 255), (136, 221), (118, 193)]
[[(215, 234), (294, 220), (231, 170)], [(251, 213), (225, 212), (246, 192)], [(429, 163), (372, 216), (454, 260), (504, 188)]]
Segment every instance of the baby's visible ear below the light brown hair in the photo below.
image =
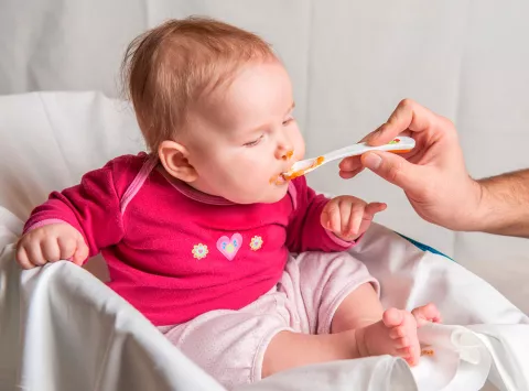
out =
[(165, 171), (173, 177), (191, 183), (198, 174), (187, 160), (187, 149), (175, 141), (162, 141), (158, 148), (158, 156)]

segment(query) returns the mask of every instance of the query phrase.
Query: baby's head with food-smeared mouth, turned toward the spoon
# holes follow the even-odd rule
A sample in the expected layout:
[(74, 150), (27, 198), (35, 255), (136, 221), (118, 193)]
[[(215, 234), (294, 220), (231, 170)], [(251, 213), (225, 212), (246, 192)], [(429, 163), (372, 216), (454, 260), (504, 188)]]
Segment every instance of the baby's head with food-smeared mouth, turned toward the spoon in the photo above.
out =
[(123, 75), (143, 137), (166, 173), (238, 204), (272, 203), (304, 154), (292, 86), (259, 36), (172, 20), (128, 47)]

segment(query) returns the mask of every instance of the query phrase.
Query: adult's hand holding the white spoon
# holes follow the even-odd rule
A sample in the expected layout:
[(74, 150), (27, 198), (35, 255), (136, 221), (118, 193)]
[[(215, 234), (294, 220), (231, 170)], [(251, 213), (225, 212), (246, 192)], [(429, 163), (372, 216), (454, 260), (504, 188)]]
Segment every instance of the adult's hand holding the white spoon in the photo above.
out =
[(406, 99), (363, 141), (382, 145), (399, 134), (415, 140), (411, 152), (376, 151), (347, 158), (339, 164), (341, 176), (350, 178), (368, 167), (401, 187), (425, 220), (454, 230), (478, 229), (483, 189), (466, 171), (454, 124)]

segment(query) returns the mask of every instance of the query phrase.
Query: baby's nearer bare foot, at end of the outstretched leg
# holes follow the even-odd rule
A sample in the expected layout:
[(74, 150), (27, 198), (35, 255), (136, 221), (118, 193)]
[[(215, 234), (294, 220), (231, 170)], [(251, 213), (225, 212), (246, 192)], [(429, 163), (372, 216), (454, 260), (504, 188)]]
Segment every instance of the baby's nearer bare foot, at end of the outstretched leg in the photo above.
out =
[(410, 366), (421, 355), (417, 337), (417, 321), (407, 311), (390, 308), (382, 321), (356, 330), (358, 352), (363, 357), (391, 355), (402, 357)]

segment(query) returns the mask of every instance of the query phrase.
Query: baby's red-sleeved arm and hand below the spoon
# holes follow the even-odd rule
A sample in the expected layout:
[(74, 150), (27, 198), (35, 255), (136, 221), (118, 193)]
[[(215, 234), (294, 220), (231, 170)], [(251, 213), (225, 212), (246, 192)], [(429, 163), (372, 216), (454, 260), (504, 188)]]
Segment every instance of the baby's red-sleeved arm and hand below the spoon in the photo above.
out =
[(367, 204), (353, 196), (328, 199), (316, 195), (304, 177), (292, 184), (295, 210), (287, 241), (292, 252), (347, 250), (367, 230), (373, 216), (386, 208), (384, 204)]

